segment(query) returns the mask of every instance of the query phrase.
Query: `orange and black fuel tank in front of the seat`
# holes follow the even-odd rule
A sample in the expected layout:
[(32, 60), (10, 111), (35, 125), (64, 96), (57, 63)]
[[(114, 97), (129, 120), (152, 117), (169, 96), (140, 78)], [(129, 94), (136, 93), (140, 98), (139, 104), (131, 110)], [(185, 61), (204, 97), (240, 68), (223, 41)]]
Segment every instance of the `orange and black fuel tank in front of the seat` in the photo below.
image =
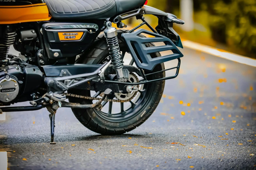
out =
[(50, 19), (44, 0), (0, 0), (0, 24)]

